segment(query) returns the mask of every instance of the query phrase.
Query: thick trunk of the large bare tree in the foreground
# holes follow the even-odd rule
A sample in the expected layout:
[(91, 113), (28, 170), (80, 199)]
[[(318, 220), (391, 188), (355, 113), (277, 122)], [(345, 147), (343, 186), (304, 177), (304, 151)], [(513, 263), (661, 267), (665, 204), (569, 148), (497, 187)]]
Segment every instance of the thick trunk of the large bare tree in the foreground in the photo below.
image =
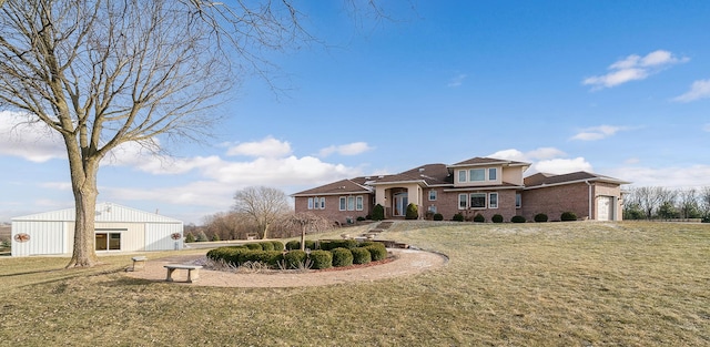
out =
[(82, 156), (75, 149), (75, 144), (74, 146), (68, 144), (68, 154), (71, 186), (74, 194), (75, 223), (74, 249), (67, 267), (90, 267), (99, 264), (94, 245), (99, 159)]

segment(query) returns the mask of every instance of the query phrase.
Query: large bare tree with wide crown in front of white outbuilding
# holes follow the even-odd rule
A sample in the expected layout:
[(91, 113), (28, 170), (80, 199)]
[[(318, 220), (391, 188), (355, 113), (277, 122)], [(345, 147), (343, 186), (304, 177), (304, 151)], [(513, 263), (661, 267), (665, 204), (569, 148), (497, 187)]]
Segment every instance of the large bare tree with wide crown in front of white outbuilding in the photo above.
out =
[[(9, 0), (0, 8), (0, 108), (61, 136), (75, 204), (70, 266), (98, 263), (97, 175), (133, 142), (158, 153), (209, 134), (210, 110), (263, 73), (265, 49), (307, 34), (288, 1)], [(278, 7), (278, 8), (276, 8)]]

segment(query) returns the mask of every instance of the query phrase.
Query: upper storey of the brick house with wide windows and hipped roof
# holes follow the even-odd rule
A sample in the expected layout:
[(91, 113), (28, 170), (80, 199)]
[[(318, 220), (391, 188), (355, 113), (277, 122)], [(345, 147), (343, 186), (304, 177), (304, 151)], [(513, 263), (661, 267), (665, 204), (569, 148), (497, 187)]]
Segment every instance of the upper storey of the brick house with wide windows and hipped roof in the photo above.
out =
[(523, 185), (523, 172), (529, 163), (490, 157), (474, 157), (448, 169), (454, 175), (454, 186)]

